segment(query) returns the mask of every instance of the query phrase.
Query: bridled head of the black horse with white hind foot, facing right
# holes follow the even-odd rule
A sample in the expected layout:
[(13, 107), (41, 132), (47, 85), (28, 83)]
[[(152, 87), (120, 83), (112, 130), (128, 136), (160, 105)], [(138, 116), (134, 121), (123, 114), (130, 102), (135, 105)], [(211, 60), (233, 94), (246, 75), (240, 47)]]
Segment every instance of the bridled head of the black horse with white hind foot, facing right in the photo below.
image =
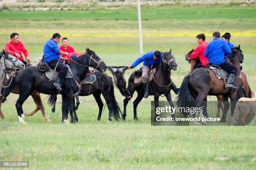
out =
[(87, 57), (89, 58), (88, 65), (90, 67), (95, 67), (100, 72), (104, 72), (107, 70), (107, 65), (103, 62), (103, 60), (100, 59), (99, 56), (96, 55), (96, 53), (89, 48), (86, 48)]

